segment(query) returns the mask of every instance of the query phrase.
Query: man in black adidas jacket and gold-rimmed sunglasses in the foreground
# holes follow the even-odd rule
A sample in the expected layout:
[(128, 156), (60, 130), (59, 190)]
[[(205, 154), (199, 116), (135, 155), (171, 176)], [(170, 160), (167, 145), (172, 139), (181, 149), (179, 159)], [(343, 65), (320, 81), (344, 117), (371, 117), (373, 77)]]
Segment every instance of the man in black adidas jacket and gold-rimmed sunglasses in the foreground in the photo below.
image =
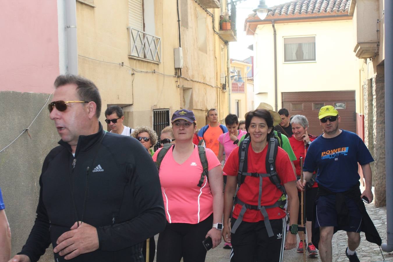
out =
[[(60, 75), (50, 117), (61, 141), (46, 156), (37, 218), (10, 261), (142, 262), (142, 242), (165, 228), (160, 181), (141, 143), (103, 131), (101, 98), (88, 79)], [(65, 101), (65, 102), (64, 102)]]

